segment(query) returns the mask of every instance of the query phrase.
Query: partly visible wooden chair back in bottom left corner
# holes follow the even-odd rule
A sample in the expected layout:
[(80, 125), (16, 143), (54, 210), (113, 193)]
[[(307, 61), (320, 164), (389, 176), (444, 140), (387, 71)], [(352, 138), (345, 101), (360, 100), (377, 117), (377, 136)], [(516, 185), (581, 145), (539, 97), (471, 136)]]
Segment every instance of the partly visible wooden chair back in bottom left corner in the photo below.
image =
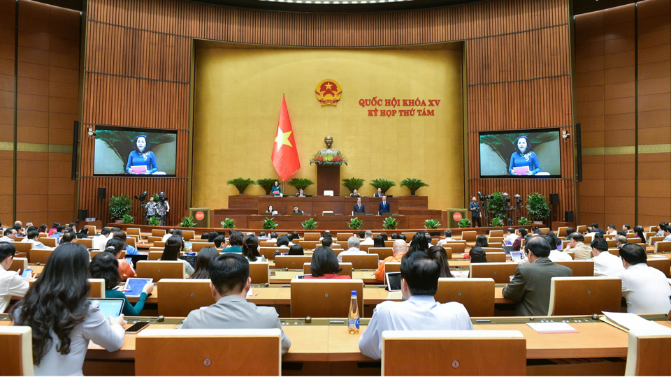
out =
[(0, 326), (0, 376), (34, 376), (32, 334), (29, 326)]

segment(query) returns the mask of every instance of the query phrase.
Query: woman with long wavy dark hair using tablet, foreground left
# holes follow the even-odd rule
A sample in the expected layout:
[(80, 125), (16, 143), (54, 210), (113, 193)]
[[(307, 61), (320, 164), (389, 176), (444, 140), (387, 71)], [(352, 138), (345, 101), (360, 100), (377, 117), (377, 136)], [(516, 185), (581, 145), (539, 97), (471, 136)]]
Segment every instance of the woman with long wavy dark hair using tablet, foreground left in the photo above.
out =
[(89, 302), (89, 252), (58, 246), (42, 274), (10, 313), (14, 325), (32, 329), (36, 376), (83, 376), (89, 341), (113, 352), (124, 344), (124, 316), (105, 318)]

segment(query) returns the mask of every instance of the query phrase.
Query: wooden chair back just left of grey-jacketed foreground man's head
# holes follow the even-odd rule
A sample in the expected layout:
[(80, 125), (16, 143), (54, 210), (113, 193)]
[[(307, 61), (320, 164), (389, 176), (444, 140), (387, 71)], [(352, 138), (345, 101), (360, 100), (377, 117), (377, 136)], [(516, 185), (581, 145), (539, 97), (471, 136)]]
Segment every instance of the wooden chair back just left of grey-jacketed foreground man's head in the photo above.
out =
[(160, 279), (157, 288), (161, 316), (186, 317), (192, 310), (215, 303), (210, 279)]

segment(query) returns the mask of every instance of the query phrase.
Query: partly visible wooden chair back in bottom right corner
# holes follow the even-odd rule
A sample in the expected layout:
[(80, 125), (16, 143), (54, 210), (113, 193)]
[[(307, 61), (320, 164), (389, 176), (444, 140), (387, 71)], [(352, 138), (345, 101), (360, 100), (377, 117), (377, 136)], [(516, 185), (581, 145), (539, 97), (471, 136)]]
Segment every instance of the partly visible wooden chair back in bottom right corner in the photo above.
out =
[(671, 371), (671, 330), (629, 330), (625, 376), (669, 376)]

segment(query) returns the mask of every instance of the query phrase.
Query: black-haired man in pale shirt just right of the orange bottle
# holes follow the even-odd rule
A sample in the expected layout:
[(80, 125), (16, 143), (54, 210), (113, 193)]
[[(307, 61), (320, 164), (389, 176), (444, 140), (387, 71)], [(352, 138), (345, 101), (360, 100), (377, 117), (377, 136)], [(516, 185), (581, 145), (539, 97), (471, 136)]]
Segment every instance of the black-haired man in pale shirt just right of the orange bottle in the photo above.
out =
[(440, 304), (440, 264), (424, 251), (406, 254), (401, 260), (401, 291), (405, 301), (385, 301), (373, 310), (368, 327), (361, 334), (359, 349), (372, 359), (382, 357), (382, 332), (386, 330), (473, 330), (468, 311), (458, 302)]

